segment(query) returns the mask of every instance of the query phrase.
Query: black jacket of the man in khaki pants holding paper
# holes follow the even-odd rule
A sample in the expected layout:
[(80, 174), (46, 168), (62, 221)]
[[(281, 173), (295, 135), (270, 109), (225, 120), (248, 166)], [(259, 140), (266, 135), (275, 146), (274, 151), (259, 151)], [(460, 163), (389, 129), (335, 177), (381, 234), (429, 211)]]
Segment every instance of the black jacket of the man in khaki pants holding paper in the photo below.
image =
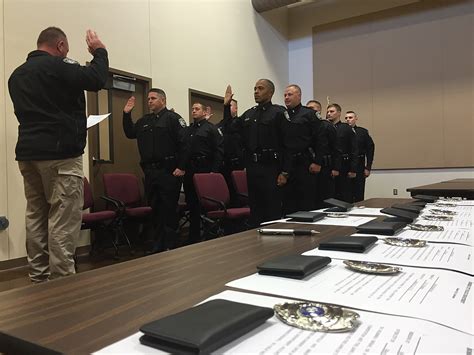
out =
[(35, 50), (8, 80), (20, 123), (17, 160), (78, 157), (86, 145), (84, 90), (98, 91), (107, 80), (107, 51), (99, 48), (89, 66)]

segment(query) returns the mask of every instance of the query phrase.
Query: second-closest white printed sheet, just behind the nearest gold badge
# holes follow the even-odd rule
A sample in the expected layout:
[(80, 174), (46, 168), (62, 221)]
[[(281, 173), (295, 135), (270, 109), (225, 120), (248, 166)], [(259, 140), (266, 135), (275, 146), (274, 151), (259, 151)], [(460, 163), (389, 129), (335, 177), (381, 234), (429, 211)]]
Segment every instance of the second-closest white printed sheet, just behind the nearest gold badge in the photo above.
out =
[(364, 274), (333, 259), (303, 280), (254, 274), (227, 286), (425, 319), (472, 335), (473, 280), (452, 271), (413, 267), (395, 275)]

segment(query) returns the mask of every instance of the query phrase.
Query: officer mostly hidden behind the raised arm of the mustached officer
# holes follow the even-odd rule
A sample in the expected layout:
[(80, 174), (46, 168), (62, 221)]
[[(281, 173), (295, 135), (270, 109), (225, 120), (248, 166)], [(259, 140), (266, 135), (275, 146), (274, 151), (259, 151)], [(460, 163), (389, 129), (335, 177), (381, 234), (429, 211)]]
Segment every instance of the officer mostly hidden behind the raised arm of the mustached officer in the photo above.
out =
[[(227, 90), (231, 90), (230, 86), (227, 87)], [(229, 187), (232, 206), (238, 205), (239, 198), (234, 189), (231, 173), (234, 170), (242, 170), (244, 168), (243, 147), (240, 135), (235, 131), (232, 131), (230, 128), (232, 122), (238, 119), (237, 108), (237, 101), (233, 98), (227, 98), (227, 101), (224, 101), (224, 117), (217, 124), (217, 128), (221, 131), (224, 137), (224, 162), (222, 174), (224, 175), (227, 186)]]

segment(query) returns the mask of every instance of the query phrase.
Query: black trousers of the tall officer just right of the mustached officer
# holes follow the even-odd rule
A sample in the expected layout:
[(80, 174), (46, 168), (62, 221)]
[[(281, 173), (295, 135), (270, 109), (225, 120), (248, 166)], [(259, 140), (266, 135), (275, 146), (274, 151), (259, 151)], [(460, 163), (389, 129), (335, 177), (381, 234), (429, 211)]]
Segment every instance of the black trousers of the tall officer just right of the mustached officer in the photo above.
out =
[(309, 172), (310, 162), (301, 159), (293, 165), (290, 177), (284, 187), (283, 214), (315, 209), (316, 174)]

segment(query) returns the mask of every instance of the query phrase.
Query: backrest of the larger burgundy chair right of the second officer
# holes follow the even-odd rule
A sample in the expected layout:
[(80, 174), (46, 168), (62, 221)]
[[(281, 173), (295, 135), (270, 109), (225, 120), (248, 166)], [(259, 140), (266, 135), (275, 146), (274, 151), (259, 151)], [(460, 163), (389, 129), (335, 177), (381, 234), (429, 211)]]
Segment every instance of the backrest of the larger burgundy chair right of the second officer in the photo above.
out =
[(230, 195), (229, 188), (225, 182), (224, 176), (220, 173), (202, 173), (194, 174), (194, 187), (196, 188), (196, 195), (199, 198), (201, 206), (206, 211), (219, 210), (221, 207), (215, 202), (204, 199), (208, 197), (217, 201), (221, 201), (224, 205), (229, 204)]

